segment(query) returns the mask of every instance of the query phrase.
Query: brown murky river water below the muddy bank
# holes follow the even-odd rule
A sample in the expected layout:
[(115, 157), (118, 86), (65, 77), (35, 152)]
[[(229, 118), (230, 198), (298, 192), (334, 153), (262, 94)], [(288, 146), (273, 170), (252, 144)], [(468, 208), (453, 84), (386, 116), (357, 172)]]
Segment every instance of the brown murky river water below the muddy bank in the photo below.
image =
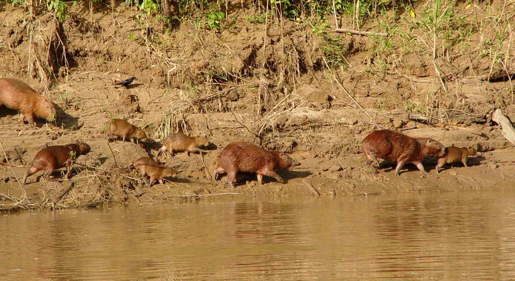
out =
[(6, 280), (513, 280), (515, 193), (0, 214)]

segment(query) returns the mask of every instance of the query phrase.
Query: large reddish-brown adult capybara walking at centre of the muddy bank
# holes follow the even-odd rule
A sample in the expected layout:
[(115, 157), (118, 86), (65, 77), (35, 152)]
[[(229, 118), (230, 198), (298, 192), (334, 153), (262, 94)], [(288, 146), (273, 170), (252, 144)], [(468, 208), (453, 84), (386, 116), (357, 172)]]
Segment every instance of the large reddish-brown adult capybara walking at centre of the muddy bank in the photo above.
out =
[(233, 142), (218, 154), (218, 166), (213, 171), (213, 180), (218, 174), (227, 173), (227, 182), (234, 188), (238, 172), (256, 173), (259, 183), (263, 183), (263, 176), (269, 176), (278, 182), (283, 179), (277, 170), (291, 169), (298, 162), (288, 155), (277, 151), (266, 151), (260, 146), (248, 142)]

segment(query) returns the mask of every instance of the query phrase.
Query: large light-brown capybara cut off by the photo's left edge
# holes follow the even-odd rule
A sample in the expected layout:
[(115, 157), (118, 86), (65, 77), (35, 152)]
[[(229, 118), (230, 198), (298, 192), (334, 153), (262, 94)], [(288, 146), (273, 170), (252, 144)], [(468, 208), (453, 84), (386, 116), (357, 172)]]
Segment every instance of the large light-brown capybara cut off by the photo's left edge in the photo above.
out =
[(51, 101), (14, 78), (0, 79), (0, 107), (2, 105), (20, 111), (22, 125), (27, 119), (31, 126), (36, 126), (35, 116), (50, 122), (54, 121), (56, 116), (56, 108)]

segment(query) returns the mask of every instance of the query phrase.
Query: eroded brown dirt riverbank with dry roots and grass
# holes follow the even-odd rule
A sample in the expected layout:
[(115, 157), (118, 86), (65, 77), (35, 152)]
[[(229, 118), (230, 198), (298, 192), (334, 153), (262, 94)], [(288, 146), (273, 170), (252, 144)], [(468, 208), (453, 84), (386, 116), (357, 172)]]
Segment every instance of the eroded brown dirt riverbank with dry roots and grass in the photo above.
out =
[[(438, 50), (435, 60), (425, 38), (408, 32), (409, 24), (399, 25), (400, 30), (421, 40), (418, 47), (425, 50), (393, 44), (403, 38), (400, 31), (390, 33), (390, 49), (381, 52), (377, 48), (385, 39), (333, 33), (332, 26), (320, 33), (307, 22), (271, 21), (265, 33), (264, 23), (244, 20), (244, 14), (256, 13), (252, 9), (232, 11), (234, 28), (219, 32), (184, 22), (173, 32), (160, 33), (152, 18), (123, 4), (109, 16), (75, 7), (63, 24), (39, 15), (30, 25), (23, 21), (23, 9), (4, 6), (0, 76), (20, 78), (52, 98), (60, 119), (52, 125), (40, 120), (38, 128), (20, 126), (15, 111), (2, 107), (0, 139), (18, 178), (46, 145), (76, 139), (90, 144), (92, 152), (78, 161), (89, 168), (75, 165), (75, 187), (59, 202), (62, 207), (195, 200), (197, 196), (181, 196), (226, 192), (266, 198), (512, 188), (514, 148), (490, 116), (501, 108), (515, 117), (509, 80), (515, 71), (513, 60), (506, 59), (515, 55), (515, 36), (505, 30), (499, 46), (487, 49), (485, 38), (496, 35), (474, 26), (476, 18), (488, 24), (489, 15), (506, 11), (502, 5), (506, 3), (458, 7), (467, 11), (462, 20), (472, 33), (460, 42), (466, 45)], [(423, 3), (417, 6), (417, 15), (424, 9)], [(345, 17), (340, 21), (345, 23)], [(399, 22), (392, 20), (394, 24)], [(368, 28), (376, 27), (370, 23)], [(336, 70), (329, 65), (333, 57), (324, 51), (324, 44), (333, 41), (320, 41), (326, 33), (345, 47), (338, 54), (345, 63)], [(495, 46), (505, 56), (499, 61), (489, 57)], [(130, 76), (138, 80), (128, 89), (112, 86), (113, 80)], [(143, 127), (153, 139), (184, 132), (207, 136), (214, 146), (202, 157), (164, 157), (167, 166), (180, 171), (178, 178), (147, 188), (128, 168), (132, 160), (148, 155), (146, 144), (111, 142), (111, 152), (101, 134), (111, 118)], [(429, 158), (428, 177), (420, 177), (411, 165), (396, 177), (390, 168), (377, 171), (364, 165), (359, 143), (377, 128), (364, 122), (445, 145), (473, 146), (481, 153), (471, 158), (470, 168), (437, 175), (435, 160)], [(225, 177), (213, 183), (219, 149), (238, 140), (291, 153), (301, 165), (282, 173), (285, 184), (267, 179), (259, 185), (250, 177), (232, 190)], [(156, 147), (149, 148), (155, 156)], [(0, 193), (10, 198), (0, 199), (4, 209), (48, 207), (68, 185), (33, 176), (23, 192), (9, 166), (0, 166), (0, 173)]]

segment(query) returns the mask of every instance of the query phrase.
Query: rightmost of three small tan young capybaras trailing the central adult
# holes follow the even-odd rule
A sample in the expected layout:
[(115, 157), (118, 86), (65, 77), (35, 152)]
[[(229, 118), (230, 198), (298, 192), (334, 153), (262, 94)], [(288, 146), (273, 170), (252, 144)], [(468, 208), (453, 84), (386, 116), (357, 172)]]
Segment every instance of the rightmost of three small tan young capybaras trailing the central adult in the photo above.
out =
[(157, 155), (159, 156), (168, 148), (170, 158), (173, 158), (176, 152), (185, 152), (187, 156), (190, 156), (190, 152), (205, 152), (200, 147), (208, 144), (209, 140), (206, 137), (189, 137), (182, 133), (170, 134), (163, 139), (163, 146), (159, 148)]

